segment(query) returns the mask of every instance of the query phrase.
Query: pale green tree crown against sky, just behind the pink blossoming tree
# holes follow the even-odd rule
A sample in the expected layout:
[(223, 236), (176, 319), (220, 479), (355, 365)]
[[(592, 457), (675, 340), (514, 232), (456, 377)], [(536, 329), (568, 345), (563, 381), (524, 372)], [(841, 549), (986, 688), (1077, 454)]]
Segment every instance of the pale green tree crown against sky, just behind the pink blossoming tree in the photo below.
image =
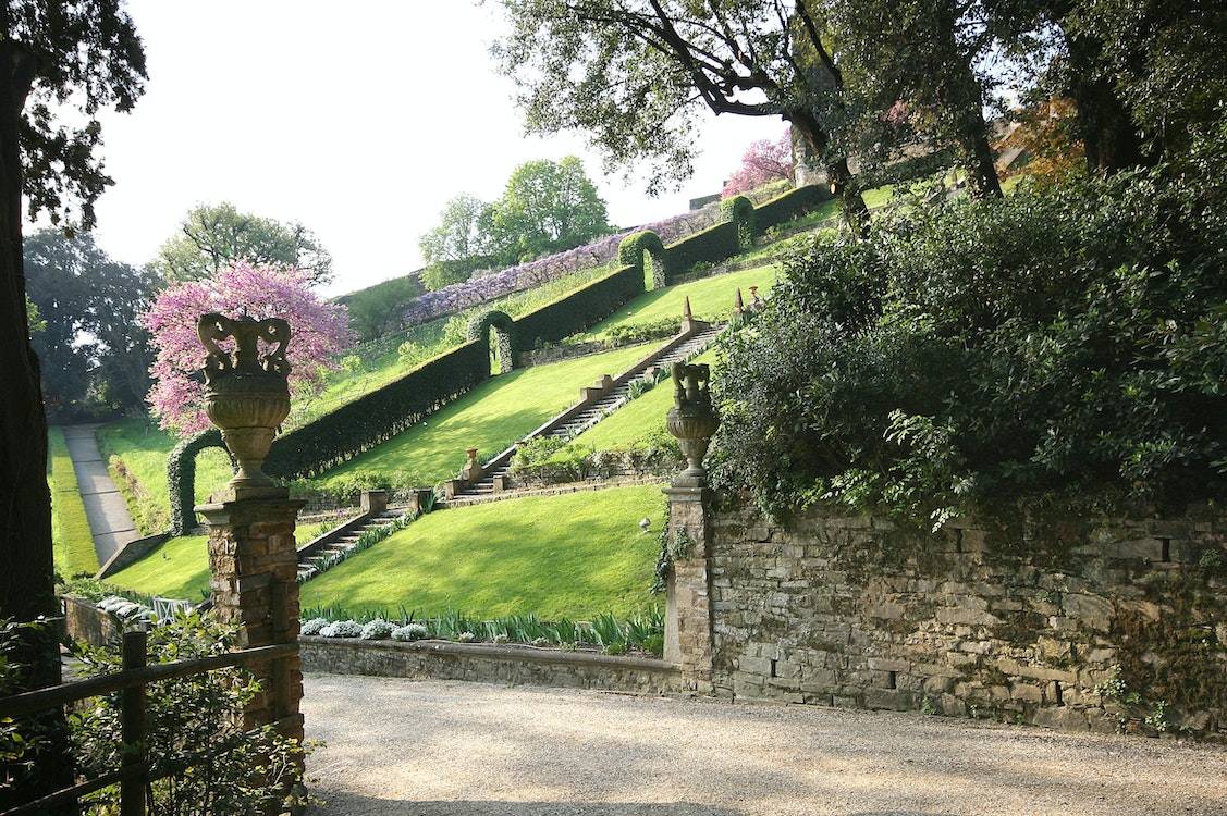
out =
[(240, 212), (229, 201), (189, 210), (152, 266), (167, 281), (198, 281), (240, 260), (298, 269), (312, 285), (333, 280), (333, 256), (310, 229)]

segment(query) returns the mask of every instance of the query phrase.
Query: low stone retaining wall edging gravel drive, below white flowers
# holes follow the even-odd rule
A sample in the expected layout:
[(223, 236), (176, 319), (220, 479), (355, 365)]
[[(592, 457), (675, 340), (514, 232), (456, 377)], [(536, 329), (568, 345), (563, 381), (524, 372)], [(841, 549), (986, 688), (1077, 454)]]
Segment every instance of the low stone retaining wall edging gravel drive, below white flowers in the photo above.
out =
[(298, 644), (303, 671), (647, 695), (679, 690), (677, 666), (648, 658), (444, 641), (399, 643), (301, 637)]

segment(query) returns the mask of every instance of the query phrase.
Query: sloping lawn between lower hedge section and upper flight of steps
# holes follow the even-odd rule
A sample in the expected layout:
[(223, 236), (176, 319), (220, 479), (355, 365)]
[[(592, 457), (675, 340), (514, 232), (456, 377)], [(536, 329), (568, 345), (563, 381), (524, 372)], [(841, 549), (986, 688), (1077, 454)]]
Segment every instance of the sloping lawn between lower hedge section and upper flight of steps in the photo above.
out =
[(579, 389), (601, 374), (617, 375), (652, 346), (631, 346), (492, 377), (426, 422), (329, 471), (321, 481), (358, 472), (413, 474), (425, 485), (452, 479), (465, 449), (488, 459), (579, 401)]

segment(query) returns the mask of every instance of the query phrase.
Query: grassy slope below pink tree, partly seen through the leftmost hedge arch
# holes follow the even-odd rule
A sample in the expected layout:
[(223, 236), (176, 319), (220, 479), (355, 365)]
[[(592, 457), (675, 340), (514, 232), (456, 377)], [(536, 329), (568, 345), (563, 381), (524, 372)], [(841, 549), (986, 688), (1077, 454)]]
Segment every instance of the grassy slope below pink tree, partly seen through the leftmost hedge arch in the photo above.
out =
[[(178, 439), (144, 418), (119, 420), (98, 428), (98, 447), (104, 459), (117, 455), (140, 483), (137, 495), (124, 490), (128, 510), (146, 535), (162, 533), (169, 525), (171, 503), (167, 497), (166, 459)], [(112, 472), (112, 477), (115, 474)], [(229, 459), (221, 448), (201, 450), (196, 456), (196, 502), (231, 479)]]

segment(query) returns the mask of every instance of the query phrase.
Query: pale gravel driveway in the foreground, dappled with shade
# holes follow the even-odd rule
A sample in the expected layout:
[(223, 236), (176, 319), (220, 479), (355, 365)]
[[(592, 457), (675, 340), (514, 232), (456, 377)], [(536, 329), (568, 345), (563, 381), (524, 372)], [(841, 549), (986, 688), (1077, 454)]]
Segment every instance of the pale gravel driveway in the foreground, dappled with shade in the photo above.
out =
[(1227, 749), (894, 712), (308, 675), (312, 814), (1227, 815)]

